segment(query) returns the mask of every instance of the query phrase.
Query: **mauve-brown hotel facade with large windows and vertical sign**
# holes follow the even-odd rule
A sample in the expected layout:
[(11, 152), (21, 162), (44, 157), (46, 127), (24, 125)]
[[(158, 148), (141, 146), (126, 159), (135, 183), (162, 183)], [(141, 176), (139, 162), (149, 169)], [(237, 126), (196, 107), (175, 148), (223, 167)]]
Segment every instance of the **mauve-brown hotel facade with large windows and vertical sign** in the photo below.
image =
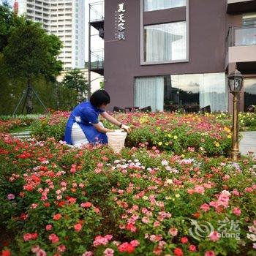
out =
[(236, 67), (256, 105), (255, 0), (105, 0), (104, 39), (110, 108), (230, 110)]

